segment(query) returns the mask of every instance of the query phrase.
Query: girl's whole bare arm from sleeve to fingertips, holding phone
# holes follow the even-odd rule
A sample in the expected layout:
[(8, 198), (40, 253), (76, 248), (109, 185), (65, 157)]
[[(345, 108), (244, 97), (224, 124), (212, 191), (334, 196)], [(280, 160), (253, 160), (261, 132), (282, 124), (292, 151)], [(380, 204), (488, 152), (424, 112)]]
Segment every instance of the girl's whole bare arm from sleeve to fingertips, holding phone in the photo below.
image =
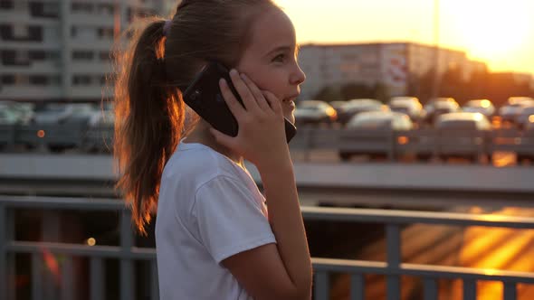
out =
[(260, 91), (246, 76), (230, 72), (244, 109), (228, 86), (221, 90), (239, 124), (238, 136), (212, 130), (217, 142), (256, 165), (268, 203), (277, 244), (243, 251), (223, 260), (239, 283), (256, 299), (310, 299), (311, 262), (280, 100)]

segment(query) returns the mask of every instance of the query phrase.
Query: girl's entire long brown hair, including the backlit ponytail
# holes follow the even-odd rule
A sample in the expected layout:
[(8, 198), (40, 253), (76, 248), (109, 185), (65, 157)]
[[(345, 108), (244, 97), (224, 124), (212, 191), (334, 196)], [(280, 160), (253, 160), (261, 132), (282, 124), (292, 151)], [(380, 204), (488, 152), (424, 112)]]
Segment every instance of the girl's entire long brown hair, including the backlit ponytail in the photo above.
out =
[(146, 234), (163, 168), (185, 130), (181, 91), (206, 61), (237, 65), (253, 19), (269, 8), (279, 9), (271, 0), (184, 0), (166, 33), (165, 20), (152, 17), (123, 34), (129, 46), (115, 55), (115, 187), (139, 232)]

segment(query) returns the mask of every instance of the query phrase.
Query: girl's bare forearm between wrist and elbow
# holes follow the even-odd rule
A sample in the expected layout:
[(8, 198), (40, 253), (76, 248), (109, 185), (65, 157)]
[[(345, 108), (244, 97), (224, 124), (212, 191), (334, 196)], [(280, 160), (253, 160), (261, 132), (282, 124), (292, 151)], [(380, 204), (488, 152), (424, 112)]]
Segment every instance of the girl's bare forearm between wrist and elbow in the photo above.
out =
[(284, 266), (299, 295), (309, 297), (311, 261), (289, 152), (276, 164), (258, 167), (269, 220)]

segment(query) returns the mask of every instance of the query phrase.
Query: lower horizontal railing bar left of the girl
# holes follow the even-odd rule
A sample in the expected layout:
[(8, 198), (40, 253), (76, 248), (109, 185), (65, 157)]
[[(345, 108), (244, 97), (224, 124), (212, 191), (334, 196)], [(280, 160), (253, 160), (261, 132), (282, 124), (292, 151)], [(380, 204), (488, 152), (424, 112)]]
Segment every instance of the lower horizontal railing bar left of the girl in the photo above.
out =
[(130, 251), (123, 251), (119, 246), (86, 246), (43, 241), (9, 241), (5, 243), (5, 250), (14, 253), (40, 253), (43, 251), (43, 248), (52, 253), (91, 258), (130, 258), (142, 260), (156, 258), (156, 248), (132, 247)]

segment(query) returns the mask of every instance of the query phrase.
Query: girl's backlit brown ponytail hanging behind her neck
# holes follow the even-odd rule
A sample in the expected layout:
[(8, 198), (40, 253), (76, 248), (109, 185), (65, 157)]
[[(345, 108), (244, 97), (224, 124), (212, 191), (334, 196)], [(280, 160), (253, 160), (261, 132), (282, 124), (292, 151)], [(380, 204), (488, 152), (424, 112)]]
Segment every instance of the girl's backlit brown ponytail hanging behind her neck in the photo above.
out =
[[(184, 126), (184, 102), (166, 75), (164, 20), (151, 21), (119, 53), (115, 84), (115, 188), (141, 234), (156, 212), (163, 168)], [(133, 53), (133, 55), (131, 54)]]

